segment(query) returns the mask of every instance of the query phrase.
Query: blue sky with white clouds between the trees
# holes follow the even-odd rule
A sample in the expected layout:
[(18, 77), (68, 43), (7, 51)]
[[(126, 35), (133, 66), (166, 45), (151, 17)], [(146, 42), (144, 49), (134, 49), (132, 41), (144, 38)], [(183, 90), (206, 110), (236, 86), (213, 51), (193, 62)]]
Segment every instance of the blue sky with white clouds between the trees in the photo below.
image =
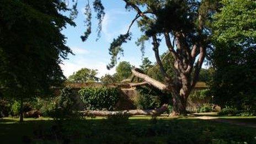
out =
[[(93, 68), (98, 70), (98, 77), (103, 76), (106, 73), (113, 74), (115, 68), (110, 71), (106, 69), (106, 65), (110, 62), (110, 55), (108, 52), (111, 41), (120, 34), (125, 34), (127, 27), (131, 20), (135, 17), (135, 12), (128, 12), (124, 7), (125, 4), (122, 1), (103, 1), (105, 7), (105, 18), (103, 20), (102, 36), (97, 39), (97, 19), (93, 15), (93, 28), (92, 35), (86, 42), (82, 42), (80, 36), (83, 35), (86, 27), (84, 26), (85, 16), (84, 6), (85, 1), (78, 2), (78, 17), (74, 21), (76, 27), (67, 26), (62, 31), (67, 37), (67, 45), (71, 47), (75, 55), (69, 55), (68, 60), (63, 61), (61, 68), (66, 77), (70, 76), (73, 72), (78, 71), (83, 67)], [(92, 8), (92, 7), (91, 7)], [(134, 24), (131, 28), (132, 40), (124, 44), (124, 56), (120, 58), (120, 61), (129, 61), (131, 65), (141, 65), (141, 51), (140, 47), (135, 45), (135, 41), (140, 36), (140, 31), (137, 28), (137, 24)], [(161, 51), (165, 51), (161, 49)], [(145, 57), (149, 57), (151, 61), (154, 60), (152, 46), (150, 42), (146, 44)]]

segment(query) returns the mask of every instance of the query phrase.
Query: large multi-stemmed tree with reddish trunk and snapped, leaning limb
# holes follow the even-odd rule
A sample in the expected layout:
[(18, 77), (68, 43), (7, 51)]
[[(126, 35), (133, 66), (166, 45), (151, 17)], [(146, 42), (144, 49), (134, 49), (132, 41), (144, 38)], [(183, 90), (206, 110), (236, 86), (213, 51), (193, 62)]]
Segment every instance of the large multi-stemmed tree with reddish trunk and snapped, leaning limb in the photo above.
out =
[[(151, 78), (138, 68), (132, 73), (143, 79), (141, 84), (150, 84), (158, 89), (173, 95), (173, 115), (186, 114), (186, 102), (191, 90), (198, 81), (199, 72), (204, 62), (207, 48), (210, 47), (211, 31), (208, 24), (214, 13), (216, 2), (213, 0), (122, 0), (126, 9), (135, 10), (137, 13), (131, 21), (126, 34), (121, 34), (111, 43), (109, 51), (111, 62), (108, 68), (116, 65), (118, 54), (123, 52), (121, 45), (130, 40), (130, 28), (136, 22), (142, 32), (142, 37), (137, 44), (142, 45), (146, 40), (152, 41), (153, 52), (156, 57), (159, 71), (166, 83)], [(94, 1), (94, 8), (98, 16), (104, 16), (104, 7), (100, 0)], [(100, 4), (99, 4), (100, 3)], [(87, 13), (90, 16), (90, 13)], [(98, 17), (99, 20), (102, 17)], [(88, 23), (90, 25), (90, 23)], [(88, 26), (90, 28), (90, 26)], [(88, 31), (88, 29), (87, 29)], [(88, 35), (85, 35), (88, 36)], [(83, 40), (86, 40), (82, 37)], [(163, 67), (159, 56), (159, 45), (163, 44), (169, 50), (169, 55), (174, 58), (169, 65), (173, 66), (174, 77), (169, 76)]]

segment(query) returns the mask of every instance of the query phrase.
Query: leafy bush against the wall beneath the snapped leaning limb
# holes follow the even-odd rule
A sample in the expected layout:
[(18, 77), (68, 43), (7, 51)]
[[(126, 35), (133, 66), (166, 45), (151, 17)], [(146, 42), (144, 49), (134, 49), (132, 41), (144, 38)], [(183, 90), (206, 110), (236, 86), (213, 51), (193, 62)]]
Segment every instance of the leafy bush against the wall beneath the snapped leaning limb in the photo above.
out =
[(138, 97), (135, 105), (137, 109), (159, 108), (164, 103), (169, 103), (170, 94), (164, 93), (153, 87), (138, 87)]

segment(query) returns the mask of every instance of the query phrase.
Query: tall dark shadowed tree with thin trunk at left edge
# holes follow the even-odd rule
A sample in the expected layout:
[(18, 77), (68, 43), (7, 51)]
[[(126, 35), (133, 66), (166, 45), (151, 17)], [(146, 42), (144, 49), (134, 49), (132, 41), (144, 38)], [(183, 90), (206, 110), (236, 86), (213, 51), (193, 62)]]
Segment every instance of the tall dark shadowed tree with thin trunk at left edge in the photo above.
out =
[(20, 100), (20, 121), (26, 98), (65, 80), (60, 63), (71, 50), (61, 30), (75, 24), (61, 12), (70, 12), (65, 1), (0, 1), (0, 88)]

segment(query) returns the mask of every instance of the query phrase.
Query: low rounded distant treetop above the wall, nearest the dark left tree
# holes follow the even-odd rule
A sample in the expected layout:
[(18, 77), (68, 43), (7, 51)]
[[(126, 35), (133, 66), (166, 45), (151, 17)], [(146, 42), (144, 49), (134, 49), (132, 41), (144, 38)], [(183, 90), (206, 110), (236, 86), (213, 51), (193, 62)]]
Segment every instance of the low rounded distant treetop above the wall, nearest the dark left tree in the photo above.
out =
[(81, 70), (74, 72), (70, 77), (68, 77), (68, 82), (98, 82), (99, 78), (96, 77), (98, 70), (90, 70), (88, 68), (82, 68)]

